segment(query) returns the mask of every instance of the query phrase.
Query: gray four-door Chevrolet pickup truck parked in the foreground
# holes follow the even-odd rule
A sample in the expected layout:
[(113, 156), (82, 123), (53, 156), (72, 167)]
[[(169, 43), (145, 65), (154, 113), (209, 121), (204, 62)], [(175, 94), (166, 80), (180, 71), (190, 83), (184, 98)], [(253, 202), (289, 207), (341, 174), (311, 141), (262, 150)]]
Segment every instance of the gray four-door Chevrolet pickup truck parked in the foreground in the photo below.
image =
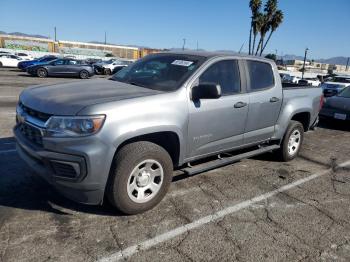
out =
[(282, 88), (273, 61), (149, 55), (110, 79), (33, 86), (17, 105), (19, 155), (66, 197), (127, 214), (188, 175), (276, 151), (292, 160), (316, 125), (320, 88)]

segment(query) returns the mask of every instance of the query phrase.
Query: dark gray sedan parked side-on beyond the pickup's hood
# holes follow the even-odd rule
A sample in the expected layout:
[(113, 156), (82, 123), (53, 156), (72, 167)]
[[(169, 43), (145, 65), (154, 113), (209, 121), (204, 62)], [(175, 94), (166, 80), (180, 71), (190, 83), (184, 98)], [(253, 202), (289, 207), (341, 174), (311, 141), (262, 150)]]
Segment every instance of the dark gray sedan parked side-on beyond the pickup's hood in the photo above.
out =
[(72, 58), (60, 58), (46, 64), (34, 65), (27, 68), (27, 72), (33, 76), (66, 76), (89, 78), (94, 75), (94, 69), (83, 60)]

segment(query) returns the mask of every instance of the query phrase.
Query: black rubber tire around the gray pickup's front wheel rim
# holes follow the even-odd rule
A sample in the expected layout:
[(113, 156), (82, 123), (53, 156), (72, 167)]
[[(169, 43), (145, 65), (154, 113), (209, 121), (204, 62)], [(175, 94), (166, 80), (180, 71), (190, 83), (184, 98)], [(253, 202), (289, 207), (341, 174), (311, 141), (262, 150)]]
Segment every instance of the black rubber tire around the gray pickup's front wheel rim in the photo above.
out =
[[(130, 192), (128, 191), (128, 186), (134, 174), (132, 171), (135, 169), (138, 170), (137, 168), (139, 168), (141, 163), (149, 160), (155, 160), (161, 165), (163, 179), (158, 192), (151, 199), (144, 203), (137, 203), (128, 193)], [(140, 174), (138, 174), (139, 176)], [(110, 203), (125, 214), (133, 215), (142, 213), (155, 207), (163, 199), (169, 189), (172, 176), (173, 163), (164, 148), (151, 142), (134, 142), (125, 145), (115, 156), (107, 183), (106, 195)], [(136, 180), (135, 184), (137, 184), (138, 178), (134, 179)], [(136, 192), (138, 194), (138, 191)], [(151, 196), (151, 194), (149, 193), (147, 197)]]

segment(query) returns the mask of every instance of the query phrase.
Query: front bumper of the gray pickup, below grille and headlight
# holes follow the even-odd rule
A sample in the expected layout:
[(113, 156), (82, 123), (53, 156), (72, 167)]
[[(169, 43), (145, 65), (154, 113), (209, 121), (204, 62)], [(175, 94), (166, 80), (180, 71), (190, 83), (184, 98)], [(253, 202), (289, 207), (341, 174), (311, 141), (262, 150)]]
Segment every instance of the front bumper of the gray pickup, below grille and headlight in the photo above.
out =
[(28, 141), (17, 127), (13, 131), (19, 156), (36, 174), (75, 202), (102, 204), (110, 167), (106, 145), (90, 138), (91, 143), (48, 143), (47, 149)]

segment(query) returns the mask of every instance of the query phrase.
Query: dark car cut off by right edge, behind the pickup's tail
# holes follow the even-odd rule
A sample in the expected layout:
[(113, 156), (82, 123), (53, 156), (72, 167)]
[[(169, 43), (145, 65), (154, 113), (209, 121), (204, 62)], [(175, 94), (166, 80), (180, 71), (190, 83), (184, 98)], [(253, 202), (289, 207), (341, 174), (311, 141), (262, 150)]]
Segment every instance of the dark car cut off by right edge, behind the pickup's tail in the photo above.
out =
[(350, 120), (350, 86), (325, 101), (320, 117)]

